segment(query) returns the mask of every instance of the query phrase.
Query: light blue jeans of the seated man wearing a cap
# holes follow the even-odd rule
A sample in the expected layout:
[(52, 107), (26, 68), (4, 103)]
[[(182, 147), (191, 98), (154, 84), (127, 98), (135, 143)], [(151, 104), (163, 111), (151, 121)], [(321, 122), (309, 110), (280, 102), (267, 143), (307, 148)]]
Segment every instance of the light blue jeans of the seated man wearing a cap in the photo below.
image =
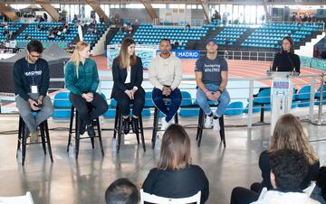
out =
[[(219, 88), (219, 86), (215, 84), (206, 84), (205, 86), (209, 91), (212, 92), (216, 92)], [(201, 88), (197, 88), (196, 99), (199, 107), (203, 109), (206, 115), (209, 115), (212, 112), (212, 110), (209, 107), (208, 98), (206, 97), (206, 94)], [(217, 101), (218, 101), (218, 106), (216, 109), (216, 116), (220, 117), (224, 114), (226, 107), (230, 103), (230, 95), (228, 94), (226, 88), (221, 94), (221, 96), (218, 97)]]

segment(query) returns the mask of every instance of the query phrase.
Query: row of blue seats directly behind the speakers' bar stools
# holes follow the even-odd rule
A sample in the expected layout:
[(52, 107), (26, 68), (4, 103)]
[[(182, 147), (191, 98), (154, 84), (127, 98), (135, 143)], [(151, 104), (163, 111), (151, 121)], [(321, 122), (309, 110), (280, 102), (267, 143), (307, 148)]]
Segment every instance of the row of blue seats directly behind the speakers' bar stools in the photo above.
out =
[[(295, 91), (294, 91), (295, 92)], [(293, 94), (292, 97), (292, 108), (295, 107), (309, 107), (310, 105), (310, 93), (311, 86), (302, 87), (298, 93)], [(106, 100), (107, 98), (101, 94)], [(179, 116), (198, 116), (199, 107), (197, 101), (193, 99), (189, 92), (181, 91), (182, 101), (179, 110)], [(314, 104), (318, 105), (321, 98), (321, 88), (318, 88), (314, 96)], [(326, 85), (324, 85), (323, 99), (326, 99)], [(326, 101), (325, 101), (326, 102)], [(112, 118), (115, 116), (115, 108), (117, 107), (117, 101), (110, 99), (110, 105), (108, 110), (103, 114), (104, 117)], [(53, 99), (54, 107), (54, 119), (69, 119), (71, 116), (72, 104), (69, 100), (69, 92), (59, 92), (54, 96)], [(150, 116), (150, 108), (154, 108), (154, 103), (152, 101), (152, 93), (145, 93), (145, 106), (141, 113), (142, 116)], [(257, 97), (254, 98), (253, 112), (260, 112), (264, 108), (264, 111), (271, 110), (271, 88), (266, 88), (259, 92)], [(235, 116), (248, 113), (248, 105), (244, 108), (244, 104), (241, 101), (235, 101), (228, 105), (225, 110), (225, 115)]]

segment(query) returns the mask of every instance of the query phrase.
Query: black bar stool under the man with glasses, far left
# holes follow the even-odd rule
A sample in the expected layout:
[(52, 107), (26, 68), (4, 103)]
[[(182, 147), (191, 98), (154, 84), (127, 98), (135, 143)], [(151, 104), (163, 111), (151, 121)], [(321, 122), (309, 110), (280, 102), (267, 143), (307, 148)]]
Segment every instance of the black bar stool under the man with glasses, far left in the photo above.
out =
[[(37, 112), (33, 112), (33, 115), (36, 116)], [(16, 152), (16, 158), (18, 157), (18, 153), (21, 150), (22, 151), (22, 165), (24, 166), (24, 160), (26, 155), (26, 145), (28, 144), (42, 144), (43, 146), (43, 153), (46, 154), (46, 148), (45, 144), (48, 146), (48, 151), (50, 155), (51, 162), (53, 162), (53, 154), (51, 149), (51, 143), (50, 143), (50, 134), (49, 134), (49, 126), (47, 123), (47, 120), (44, 120), (40, 125), (37, 126), (40, 128), (41, 140), (42, 142), (36, 142), (36, 143), (27, 143), (27, 130), (26, 125), (24, 123), (24, 120), (22, 116), (19, 116), (19, 124), (18, 124), (18, 144), (17, 144), (17, 152)], [(22, 149), (21, 149), (22, 147)]]

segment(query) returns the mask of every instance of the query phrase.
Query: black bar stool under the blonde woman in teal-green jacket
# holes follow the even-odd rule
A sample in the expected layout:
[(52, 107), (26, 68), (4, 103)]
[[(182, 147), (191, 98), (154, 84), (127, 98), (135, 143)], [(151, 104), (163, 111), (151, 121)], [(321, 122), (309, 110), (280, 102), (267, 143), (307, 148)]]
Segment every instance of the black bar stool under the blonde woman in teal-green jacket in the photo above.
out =
[[(91, 104), (88, 104), (88, 109), (89, 111), (91, 110)], [(69, 144), (71, 144), (72, 142), (72, 123), (73, 123), (73, 117), (74, 117), (74, 111), (75, 111), (75, 107), (73, 107), (72, 105), (72, 113), (71, 113), (71, 119), (70, 119), (70, 125), (69, 125), (69, 137), (68, 137), (68, 144), (67, 144), (67, 152), (69, 152)], [(91, 148), (94, 149), (94, 138), (98, 137), (99, 138), (99, 142), (100, 142), (100, 148), (101, 148), (101, 154), (102, 156), (104, 156), (104, 149), (103, 149), (103, 144), (101, 141), (101, 123), (100, 123), (100, 117), (94, 118), (91, 123), (92, 125), (96, 125), (96, 130), (97, 130), (97, 134), (95, 132), (95, 136), (94, 137), (81, 137), (81, 125), (82, 125), (82, 118), (79, 116), (78, 114), (78, 110), (76, 109), (76, 119), (75, 119), (75, 157), (76, 160), (78, 159), (78, 153), (79, 153), (79, 144), (80, 144), (80, 140), (82, 139), (88, 139), (91, 138)]]

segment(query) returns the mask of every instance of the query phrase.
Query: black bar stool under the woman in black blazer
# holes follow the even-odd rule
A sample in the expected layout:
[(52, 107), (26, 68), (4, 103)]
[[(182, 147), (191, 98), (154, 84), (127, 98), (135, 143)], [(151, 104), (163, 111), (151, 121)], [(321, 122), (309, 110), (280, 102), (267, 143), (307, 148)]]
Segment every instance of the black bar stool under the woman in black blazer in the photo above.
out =
[[(114, 119), (114, 133), (113, 133), (113, 138), (116, 139), (116, 136), (118, 134), (118, 143), (117, 143), (117, 152), (119, 153), (120, 151), (120, 144), (121, 144), (121, 134), (122, 134), (122, 115), (120, 112), (120, 107), (119, 103), (117, 102), (117, 107), (116, 107), (116, 115)], [(140, 137), (141, 137), (141, 144), (143, 146), (144, 152), (146, 152), (146, 146), (145, 146), (145, 138), (144, 138), (144, 128), (142, 125), (142, 117), (141, 115), (139, 116), (139, 131), (140, 131)], [(139, 144), (139, 132), (134, 133), (136, 134), (137, 137), (137, 143)]]

